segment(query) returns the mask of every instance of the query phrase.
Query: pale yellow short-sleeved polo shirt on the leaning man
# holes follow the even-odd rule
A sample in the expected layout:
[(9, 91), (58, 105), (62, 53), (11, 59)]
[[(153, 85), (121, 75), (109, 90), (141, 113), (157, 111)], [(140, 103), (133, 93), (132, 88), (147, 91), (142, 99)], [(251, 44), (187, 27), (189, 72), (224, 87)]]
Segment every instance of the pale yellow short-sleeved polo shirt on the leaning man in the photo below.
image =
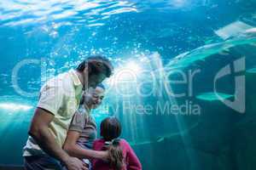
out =
[[(40, 90), (38, 108), (49, 111), (54, 119), (49, 124), (49, 132), (56, 144), (62, 147), (67, 137), (67, 129), (75, 111), (79, 107), (83, 85), (74, 70), (50, 79)], [(44, 155), (37, 142), (28, 137), (23, 148), (23, 156)]]

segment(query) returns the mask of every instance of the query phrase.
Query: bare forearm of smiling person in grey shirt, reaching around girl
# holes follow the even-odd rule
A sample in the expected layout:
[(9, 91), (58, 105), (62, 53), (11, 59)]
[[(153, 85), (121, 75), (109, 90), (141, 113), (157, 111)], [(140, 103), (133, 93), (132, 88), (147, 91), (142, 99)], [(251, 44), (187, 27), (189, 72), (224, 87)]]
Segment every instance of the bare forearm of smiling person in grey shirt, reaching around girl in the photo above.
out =
[(70, 156), (75, 156), (79, 158), (95, 158), (108, 160), (108, 151), (96, 151), (96, 150), (86, 150), (77, 144), (80, 133), (78, 131), (69, 130), (67, 133), (67, 139), (63, 144), (63, 149), (67, 151)]

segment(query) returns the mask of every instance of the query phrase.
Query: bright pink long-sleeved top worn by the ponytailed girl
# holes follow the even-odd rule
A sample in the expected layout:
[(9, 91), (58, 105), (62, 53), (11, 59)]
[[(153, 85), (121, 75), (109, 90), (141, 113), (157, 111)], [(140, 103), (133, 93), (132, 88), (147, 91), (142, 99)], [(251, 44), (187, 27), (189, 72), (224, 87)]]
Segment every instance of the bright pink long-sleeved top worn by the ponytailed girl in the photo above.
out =
[[(104, 139), (96, 139), (93, 143), (93, 150), (104, 150)], [(123, 150), (123, 156), (125, 159), (125, 167), (122, 170), (142, 170), (142, 164), (138, 160), (136, 154), (131, 149), (130, 144), (125, 139), (120, 139), (119, 141), (120, 147)], [(92, 169), (94, 170), (110, 170), (110, 166), (108, 162), (94, 159), (92, 161)]]

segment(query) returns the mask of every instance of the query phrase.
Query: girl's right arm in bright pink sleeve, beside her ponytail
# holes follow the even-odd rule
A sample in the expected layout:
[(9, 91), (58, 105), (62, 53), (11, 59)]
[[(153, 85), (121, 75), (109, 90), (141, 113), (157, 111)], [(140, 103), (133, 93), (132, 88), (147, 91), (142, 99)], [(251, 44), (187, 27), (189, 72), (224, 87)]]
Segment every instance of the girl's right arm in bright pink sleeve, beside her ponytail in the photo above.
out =
[(128, 170), (142, 170), (142, 164), (137, 158), (135, 152), (132, 150), (130, 144), (125, 141), (125, 148), (127, 149), (127, 169)]

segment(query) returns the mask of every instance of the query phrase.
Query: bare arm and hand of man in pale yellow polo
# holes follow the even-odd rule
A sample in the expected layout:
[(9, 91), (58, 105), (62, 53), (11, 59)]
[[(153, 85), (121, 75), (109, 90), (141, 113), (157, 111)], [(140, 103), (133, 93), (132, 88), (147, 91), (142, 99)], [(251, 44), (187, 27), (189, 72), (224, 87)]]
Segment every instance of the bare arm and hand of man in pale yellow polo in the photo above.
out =
[(87, 168), (82, 161), (68, 156), (67, 153), (56, 144), (54, 136), (49, 132), (49, 123), (52, 122), (53, 119), (54, 115), (49, 111), (37, 108), (32, 118), (29, 134), (49, 156), (53, 156), (62, 161), (67, 166), (67, 169), (86, 170)]

